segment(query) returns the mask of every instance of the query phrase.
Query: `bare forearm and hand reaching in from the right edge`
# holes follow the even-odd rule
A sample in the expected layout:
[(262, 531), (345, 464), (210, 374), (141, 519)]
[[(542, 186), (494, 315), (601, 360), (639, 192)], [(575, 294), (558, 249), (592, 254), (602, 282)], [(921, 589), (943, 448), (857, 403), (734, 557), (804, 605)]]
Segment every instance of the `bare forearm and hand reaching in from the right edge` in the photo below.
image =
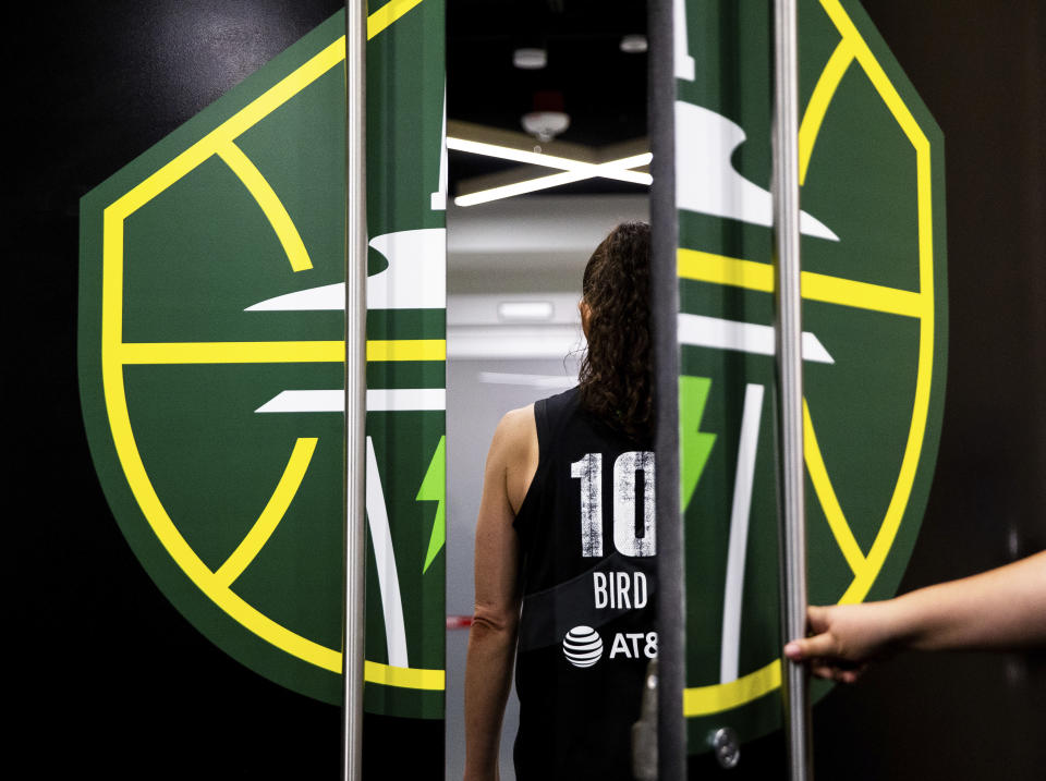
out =
[(784, 655), (847, 683), (891, 650), (1046, 646), (1046, 551), (881, 602), (811, 607), (808, 621), (814, 636)]

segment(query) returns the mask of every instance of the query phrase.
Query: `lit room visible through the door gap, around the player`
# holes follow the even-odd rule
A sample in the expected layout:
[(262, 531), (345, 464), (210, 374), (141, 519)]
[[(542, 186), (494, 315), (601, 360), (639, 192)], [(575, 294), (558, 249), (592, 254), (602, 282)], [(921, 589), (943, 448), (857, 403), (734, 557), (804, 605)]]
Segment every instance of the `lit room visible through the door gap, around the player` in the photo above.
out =
[[(490, 437), (509, 410), (576, 385), (585, 263), (619, 222), (649, 220), (645, 3), (497, 8), (447, 3), (448, 778), (464, 770), (474, 533)], [(516, 725), (513, 691), (504, 779), (514, 778)]]

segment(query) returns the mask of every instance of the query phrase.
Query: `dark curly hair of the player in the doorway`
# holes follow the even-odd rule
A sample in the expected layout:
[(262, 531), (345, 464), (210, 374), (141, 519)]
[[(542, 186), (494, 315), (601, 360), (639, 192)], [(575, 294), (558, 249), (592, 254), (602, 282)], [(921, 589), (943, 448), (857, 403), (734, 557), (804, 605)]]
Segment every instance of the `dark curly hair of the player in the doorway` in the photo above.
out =
[(582, 293), (588, 305), (588, 352), (581, 362), (581, 404), (633, 440), (649, 436), (650, 227), (623, 222), (588, 258)]

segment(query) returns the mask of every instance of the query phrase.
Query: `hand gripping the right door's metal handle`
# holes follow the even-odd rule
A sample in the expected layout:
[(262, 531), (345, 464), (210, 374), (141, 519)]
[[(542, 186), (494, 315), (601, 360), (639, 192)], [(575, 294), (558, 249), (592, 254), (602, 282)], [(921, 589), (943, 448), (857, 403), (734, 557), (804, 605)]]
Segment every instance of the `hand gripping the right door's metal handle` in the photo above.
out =
[(810, 662), (818, 678), (853, 683), (873, 659), (890, 649), (889, 602), (811, 606), (806, 611), (810, 637), (784, 646), (792, 661)]

